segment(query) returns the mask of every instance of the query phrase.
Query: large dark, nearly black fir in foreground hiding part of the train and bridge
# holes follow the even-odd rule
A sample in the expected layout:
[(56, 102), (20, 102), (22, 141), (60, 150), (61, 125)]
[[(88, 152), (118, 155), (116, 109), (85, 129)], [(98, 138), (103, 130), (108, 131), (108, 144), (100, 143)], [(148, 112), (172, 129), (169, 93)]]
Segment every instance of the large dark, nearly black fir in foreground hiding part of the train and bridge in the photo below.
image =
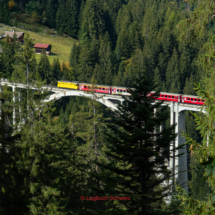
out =
[(163, 149), (168, 149), (176, 137), (174, 126), (162, 132), (157, 129), (169, 114), (166, 107), (159, 110), (162, 102), (154, 103), (154, 98), (147, 96), (155, 88), (151, 78), (139, 74), (132, 87), (131, 96), (118, 106), (117, 117), (109, 126), (109, 162), (98, 162), (103, 169), (98, 177), (105, 182), (104, 194), (130, 196), (130, 201), (118, 202), (119, 214), (163, 214), (161, 199), (170, 195), (164, 181), (171, 177), (165, 166), (170, 151)]

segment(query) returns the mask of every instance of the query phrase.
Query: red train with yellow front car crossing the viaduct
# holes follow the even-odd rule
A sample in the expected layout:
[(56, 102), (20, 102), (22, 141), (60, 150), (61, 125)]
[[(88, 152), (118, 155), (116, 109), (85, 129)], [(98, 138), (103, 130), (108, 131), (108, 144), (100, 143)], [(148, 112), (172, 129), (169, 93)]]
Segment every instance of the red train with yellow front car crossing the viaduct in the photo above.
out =
[[(79, 83), (78, 81), (58, 81), (58, 87), (65, 89), (81, 90), (81, 91), (92, 91), (93, 85), (88, 83)], [(112, 95), (125, 95), (129, 96), (130, 93), (126, 87), (117, 86), (106, 86), (96, 85), (94, 87), (96, 93), (112, 94)], [(155, 92), (151, 92), (152, 95)], [(160, 95), (156, 100), (181, 102), (186, 104), (203, 105), (204, 100), (199, 99), (197, 96), (175, 94), (175, 93), (164, 93), (160, 92)]]

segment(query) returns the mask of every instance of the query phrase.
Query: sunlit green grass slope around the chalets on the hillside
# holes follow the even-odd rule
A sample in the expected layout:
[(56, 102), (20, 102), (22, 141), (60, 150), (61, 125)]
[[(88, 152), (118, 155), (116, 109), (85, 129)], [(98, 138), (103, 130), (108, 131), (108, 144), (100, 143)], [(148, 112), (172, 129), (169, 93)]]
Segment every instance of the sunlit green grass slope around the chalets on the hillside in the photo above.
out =
[[(28, 33), (30, 37), (33, 39), (33, 43), (48, 43), (52, 45), (51, 54), (48, 56), (50, 63), (53, 62), (54, 58), (58, 57), (60, 62), (67, 62), (69, 60), (69, 55), (71, 51), (72, 44), (78, 43), (73, 38), (63, 38), (60, 36), (51, 36), (46, 32), (35, 33), (28, 30), (23, 30), (21, 28), (15, 28), (12, 26), (4, 25), (0, 23), (0, 35), (4, 33), (4, 31), (22, 31)], [(24, 37), (25, 39), (25, 37)], [(41, 55), (36, 54), (36, 59), (39, 62)]]

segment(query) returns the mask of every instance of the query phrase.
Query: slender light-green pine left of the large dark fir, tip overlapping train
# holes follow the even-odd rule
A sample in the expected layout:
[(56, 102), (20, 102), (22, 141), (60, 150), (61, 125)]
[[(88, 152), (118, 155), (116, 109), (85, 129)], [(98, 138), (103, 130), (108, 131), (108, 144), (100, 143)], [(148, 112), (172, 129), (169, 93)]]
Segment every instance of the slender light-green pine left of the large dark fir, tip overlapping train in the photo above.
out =
[[(100, 179), (95, 178), (93, 173), (99, 173), (100, 169), (94, 161), (104, 161), (104, 132), (106, 130), (105, 120), (102, 113), (101, 105), (96, 101), (96, 82), (92, 78), (92, 99), (87, 102), (87, 105), (79, 106), (80, 110), (72, 111), (70, 115), (69, 127), (75, 137), (82, 139), (84, 143), (80, 148), (84, 154), (87, 154), (85, 163), (89, 164), (88, 176), (86, 183), (88, 186), (88, 193), (91, 196), (98, 196), (99, 191), (92, 190), (92, 187), (100, 188)], [(88, 204), (88, 210), (102, 207), (104, 203), (96, 202), (95, 205)]]

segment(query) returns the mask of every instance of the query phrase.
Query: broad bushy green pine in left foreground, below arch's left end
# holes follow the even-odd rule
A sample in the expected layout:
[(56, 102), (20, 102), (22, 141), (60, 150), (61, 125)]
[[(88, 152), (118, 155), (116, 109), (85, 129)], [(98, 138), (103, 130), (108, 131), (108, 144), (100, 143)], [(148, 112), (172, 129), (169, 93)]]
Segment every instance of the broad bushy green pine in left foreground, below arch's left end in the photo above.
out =
[(22, 154), (19, 166), (27, 170), (25, 195), (29, 212), (67, 214), (72, 209), (81, 210), (83, 204), (75, 202), (75, 198), (80, 196), (78, 191), (85, 176), (84, 170), (80, 172), (76, 146), (69, 141), (65, 129), (51, 118), (49, 106), (37, 103), (37, 108), (23, 127), (22, 140), (18, 142)]

